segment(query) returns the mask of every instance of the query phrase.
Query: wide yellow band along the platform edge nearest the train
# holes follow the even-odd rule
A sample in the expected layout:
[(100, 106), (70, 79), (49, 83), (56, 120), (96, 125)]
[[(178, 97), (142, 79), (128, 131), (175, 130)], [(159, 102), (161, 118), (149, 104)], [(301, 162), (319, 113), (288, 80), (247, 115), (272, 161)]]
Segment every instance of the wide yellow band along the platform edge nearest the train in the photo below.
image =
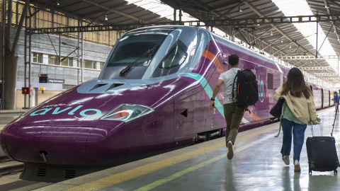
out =
[[(266, 129), (261, 129), (261, 130), (256, 131), (256, 132), (251, 132), (249, 134), (244, 134), (242, 136), (237, 137), (237, 141), (248, 139), (249, 137), (254, 137), (258, 134), (262, 134), (264, 132), (268, 132), (268, 131), (271, 131), (271, 130), (276, 129), (276, 128), (278, 128), (277, 125), (275, 125), (273, 127), (268, 127)], [(190, 158), (194, 158), (194, 157), (199, 156), (201, 154), (205, 154), (205, 153), (208, 153), (210, 151), (220, 149), (223, 146), (225, 146), (225, 141), (220, 141), (220, 142), (217, 142), (216, 144), (212, 144), (210, 146), (205, 146), (203, 148), (196, 149), (195, 151), (189, 151), (188, 153), (180, 154), (178, 156), (173, 156), (171, 158), (166, 158), (162, 161), (149, 163), (149, 164), (146, 164), (144, 166), (140, 166), (140, 167), (137, 167), (137, 168), (133, 168), (131, 170), (127, 170), (123, 173), (118, 173), (118, 174), (115, 174), (115, 175), (108, 176), (106, 178), (94, 180), (90, 183), (78, 185), (78, 186), (75, 186), (75, 187), (70, 187), (67, 190), (69, 190), (69, 191), (71, 191), (71, 190), (72, 191), (73, 190), (81, 190), (81, 191), (82, 190), (101, 190), (103, 188), (111, 187), (113, 185), (117, 185), (119, 183), (123, 183), (125, 181), (131, 180), (133, 178), (140, 177), (141, 175), (146, 175), (146, 174), (152, 173), (156, 170), (166, 168), (167, 166), (172, 166), (176, 163), (181, 163), (182, 161), (186, 161)]]

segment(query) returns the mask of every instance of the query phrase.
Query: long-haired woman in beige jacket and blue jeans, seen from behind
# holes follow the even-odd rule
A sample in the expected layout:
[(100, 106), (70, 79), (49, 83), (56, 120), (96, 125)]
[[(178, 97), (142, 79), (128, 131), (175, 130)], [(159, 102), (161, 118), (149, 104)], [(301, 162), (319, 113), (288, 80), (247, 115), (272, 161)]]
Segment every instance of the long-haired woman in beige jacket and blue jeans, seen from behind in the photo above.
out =
[(274, 99), (276, 101), (280, 97), (285, 98), (280, 116), (283, 131), (282, 160), (286, 165), (289, 165), (293, 131), (294, 171), (300, 172), (299, 161), (305, 141), (305, 129), (311, 122), (313, 125), (319, 124), (312, 92), (306, 86), (302, 72), (297, 68), (289, 70), (287, 81), (275, 92)]

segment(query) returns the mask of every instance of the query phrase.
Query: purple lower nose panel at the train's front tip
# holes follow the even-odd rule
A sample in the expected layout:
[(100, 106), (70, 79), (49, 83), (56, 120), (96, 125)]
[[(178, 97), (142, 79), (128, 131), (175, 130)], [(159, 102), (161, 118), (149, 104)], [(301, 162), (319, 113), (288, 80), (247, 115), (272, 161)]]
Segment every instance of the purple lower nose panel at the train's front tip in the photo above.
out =
[(8, 153), (29, 163), (82, 165), (86, 141), (94, 127), (44, 127), (12, 125), (6, 130)]

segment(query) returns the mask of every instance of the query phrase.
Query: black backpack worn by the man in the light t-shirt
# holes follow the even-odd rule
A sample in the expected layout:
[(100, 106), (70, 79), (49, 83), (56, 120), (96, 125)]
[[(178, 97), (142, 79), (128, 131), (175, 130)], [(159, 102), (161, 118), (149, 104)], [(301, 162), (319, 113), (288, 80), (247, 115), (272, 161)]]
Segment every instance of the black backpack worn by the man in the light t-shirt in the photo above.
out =
[[(236, 98), (234, 98), (235, 81), (237, 83)], [(259, 100), (259, 88), (257, 86), (256, 76), (251, 70), (243, 69), (237, 71), (234, 83), (232, 83), (232, 100), (234, 100), (234, 103), (237, 103), (237, 105), (244, 107), (244, 110), (248, 110), (249, 105), (255, 105)]]

